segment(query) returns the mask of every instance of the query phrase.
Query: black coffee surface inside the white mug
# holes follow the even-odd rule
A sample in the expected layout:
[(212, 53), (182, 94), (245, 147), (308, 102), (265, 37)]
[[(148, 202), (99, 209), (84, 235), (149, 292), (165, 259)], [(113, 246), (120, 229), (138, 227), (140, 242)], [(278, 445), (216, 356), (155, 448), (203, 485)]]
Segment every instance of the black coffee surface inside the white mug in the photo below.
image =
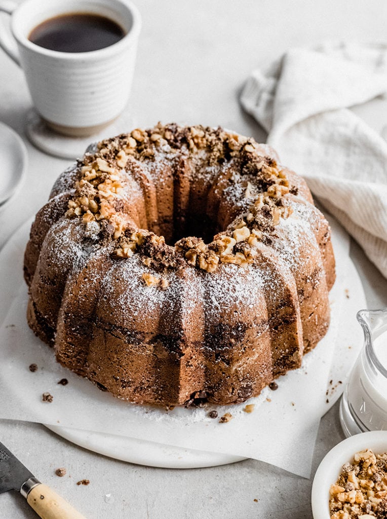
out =
[(68, 13), (39, 23), (30, 42), (59, 52), (90, 52), (118, 42), (125, 31), (118, 23), (91, 13)]

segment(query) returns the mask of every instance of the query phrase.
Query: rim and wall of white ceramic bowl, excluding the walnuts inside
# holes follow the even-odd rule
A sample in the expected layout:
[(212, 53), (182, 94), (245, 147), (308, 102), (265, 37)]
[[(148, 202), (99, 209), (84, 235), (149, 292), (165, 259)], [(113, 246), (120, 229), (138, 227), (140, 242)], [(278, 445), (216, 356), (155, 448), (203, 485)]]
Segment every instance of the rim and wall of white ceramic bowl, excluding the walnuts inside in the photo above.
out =
[(329, 487), (336, 483), (344, 463), (351, 462), (360, 450), (371, 449), (375, 454), (387, 451), (387, 431), (355, 434), (338, 443), (322, 460), (312, 486), (313, 519), (329, 519)]

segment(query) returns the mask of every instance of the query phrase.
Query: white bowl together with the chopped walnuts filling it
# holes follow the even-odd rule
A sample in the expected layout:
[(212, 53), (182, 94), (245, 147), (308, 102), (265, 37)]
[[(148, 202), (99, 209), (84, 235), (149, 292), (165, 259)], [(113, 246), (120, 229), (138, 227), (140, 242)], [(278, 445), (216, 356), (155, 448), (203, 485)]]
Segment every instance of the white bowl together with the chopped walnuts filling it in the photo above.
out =
[(356, 434), (331, 449), (313, 480), (314, 519), (387, 518), (387, 431)]

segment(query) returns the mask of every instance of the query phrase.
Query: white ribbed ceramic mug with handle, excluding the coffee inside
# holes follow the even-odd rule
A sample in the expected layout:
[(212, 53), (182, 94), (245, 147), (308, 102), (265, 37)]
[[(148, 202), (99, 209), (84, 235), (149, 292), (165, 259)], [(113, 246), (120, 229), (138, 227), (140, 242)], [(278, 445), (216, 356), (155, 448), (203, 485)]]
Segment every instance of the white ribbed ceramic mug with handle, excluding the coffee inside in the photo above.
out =
[[(0, 0), (11, 32), (0, 27), (0, 46), (24, 71), (39, 115), (72, 136), (98, 132), (125, 108), (134, 72), (141, 18), (129, 0)], [(90, 52), (59, 52), (28, 39), (39, 23), (66, 13), (91, 13), (118, 23), (125, 36)]]

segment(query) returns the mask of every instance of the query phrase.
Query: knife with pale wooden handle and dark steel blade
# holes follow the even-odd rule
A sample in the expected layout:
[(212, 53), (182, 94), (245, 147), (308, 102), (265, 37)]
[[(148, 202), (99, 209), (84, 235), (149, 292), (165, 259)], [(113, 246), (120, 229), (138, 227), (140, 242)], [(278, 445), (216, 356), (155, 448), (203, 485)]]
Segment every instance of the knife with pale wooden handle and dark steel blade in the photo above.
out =
[(17, 490), (42, 519), (85, 519), (71, 504), (43, 485), (0, 442), (0, 494)]

